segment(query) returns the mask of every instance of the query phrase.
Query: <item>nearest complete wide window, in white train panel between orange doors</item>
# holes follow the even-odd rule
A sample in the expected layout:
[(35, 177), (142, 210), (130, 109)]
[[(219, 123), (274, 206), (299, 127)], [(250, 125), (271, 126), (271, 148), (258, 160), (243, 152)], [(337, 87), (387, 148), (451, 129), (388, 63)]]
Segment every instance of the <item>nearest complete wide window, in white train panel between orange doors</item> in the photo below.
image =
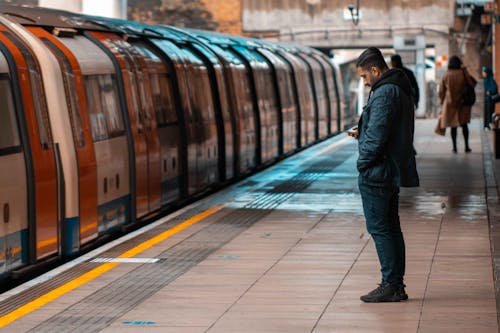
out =
[(84, 80), (93, 140), (123, 135), (125, 130), (115, 77), (111, 74), (86, 75)]

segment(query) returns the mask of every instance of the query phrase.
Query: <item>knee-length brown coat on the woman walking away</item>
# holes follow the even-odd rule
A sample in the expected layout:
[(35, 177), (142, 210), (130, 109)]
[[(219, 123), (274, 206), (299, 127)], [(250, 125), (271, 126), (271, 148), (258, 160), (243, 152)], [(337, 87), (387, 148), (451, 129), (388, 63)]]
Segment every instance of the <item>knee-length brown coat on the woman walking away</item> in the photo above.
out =
[(458, 127), (470, 122), (471, 107), (460, 104), (460, 95), (465, 83), (464, 71), (469, 84), (473, 80), (467, 70), (448, 69), (439, 84), (441, 112), (439, 124), (441, 128)]

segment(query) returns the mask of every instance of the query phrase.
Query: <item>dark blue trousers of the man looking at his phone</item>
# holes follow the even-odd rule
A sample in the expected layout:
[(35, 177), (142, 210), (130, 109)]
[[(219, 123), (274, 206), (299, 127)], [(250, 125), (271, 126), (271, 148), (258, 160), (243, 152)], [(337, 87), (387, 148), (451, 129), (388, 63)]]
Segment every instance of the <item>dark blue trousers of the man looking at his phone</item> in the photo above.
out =
[(399, 187), (359, 184), (366, 229), (375, 242), (382, 282), (403, 283), (405, 241), (399, 222)]

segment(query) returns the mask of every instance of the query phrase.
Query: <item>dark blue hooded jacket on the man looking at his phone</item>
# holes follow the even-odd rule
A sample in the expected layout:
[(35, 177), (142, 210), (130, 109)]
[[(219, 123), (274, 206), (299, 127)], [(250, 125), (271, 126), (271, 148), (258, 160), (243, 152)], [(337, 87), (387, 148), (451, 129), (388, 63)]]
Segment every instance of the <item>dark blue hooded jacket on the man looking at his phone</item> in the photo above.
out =
[(372, 86), (358, 123), (359, 181), (372, 186), (419, 185), (413, 149), (415, 110), (405, 73), (391, 69)]

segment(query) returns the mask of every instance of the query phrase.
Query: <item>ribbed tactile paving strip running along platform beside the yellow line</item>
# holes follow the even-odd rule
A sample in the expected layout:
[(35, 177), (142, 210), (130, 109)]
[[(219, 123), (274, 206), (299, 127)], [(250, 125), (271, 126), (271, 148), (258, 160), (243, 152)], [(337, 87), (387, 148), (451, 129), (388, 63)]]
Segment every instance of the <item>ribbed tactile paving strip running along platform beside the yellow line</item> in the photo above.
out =
[[(315, 164), (306, 166), (302, 172), (288, 180), (272, 186), (269, 184), (264, 186), (267, 190), (257, 195), (242, 208), (232, 210), (229, 213), (227, 209), (217, 212), (212, 216), (216, 222), (164, 251), (159, 256), (161, 260), (158, 263), (137, 267), (36, 326), (30, 332), (97, 332), (102, 330), (191, 267), (203, 261), (215, 250), (262, 219), (295, 193), (307, 189), (314, 181), (324, 177), (325, 172), (331, 172), (343, 160), (345, 157), (341, 156), (333, 159), (322, 159), (318, 161), (317, 166)], [(196, 213), (190, 212), (189, 215)], [(168, 229), (172, 224), (176, 225), (179, 220), (186, 218), (188, 216), (181, 215), (162, 227)], [(145, 240), (158, 232), (161, 230), (155, 228), (139, 238)], [(136, 242), (134, 241), (134, 243)], [(103, 256), (110, 257), (113, 253), (118, 254), (123, 250), (125, 249), (118, 247), (108, 251)], [(92, 267), (95, 265), (93, 264)]]

